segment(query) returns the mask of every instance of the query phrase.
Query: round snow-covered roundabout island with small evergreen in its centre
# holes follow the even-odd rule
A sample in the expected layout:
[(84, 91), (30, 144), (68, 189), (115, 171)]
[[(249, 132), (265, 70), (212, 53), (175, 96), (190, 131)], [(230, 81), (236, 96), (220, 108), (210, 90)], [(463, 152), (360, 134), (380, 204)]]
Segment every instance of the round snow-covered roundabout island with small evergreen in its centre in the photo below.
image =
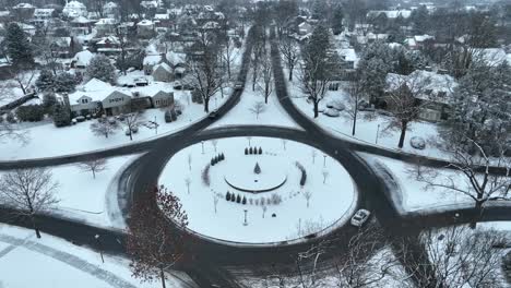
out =
[(358, 193), (334, 158), (273, 137), (199, 142), (159, 176), (183, 205), (189, 230), (233, 244), (301, 241), (346, 224)]

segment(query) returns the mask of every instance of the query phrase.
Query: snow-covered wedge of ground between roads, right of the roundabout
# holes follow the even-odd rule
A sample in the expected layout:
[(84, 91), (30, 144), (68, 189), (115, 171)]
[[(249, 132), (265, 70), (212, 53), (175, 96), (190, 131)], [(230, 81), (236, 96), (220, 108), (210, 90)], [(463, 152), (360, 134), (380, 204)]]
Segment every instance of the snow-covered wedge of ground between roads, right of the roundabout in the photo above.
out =
[[(392, 201), (395, 207), (402, 214), (409, 212), (433, 212), (433, 211), (451, 211), (460, 207), (472, 207), (474, 201), (461, 193), (444, 188), (430, 188), (426, 190), (426, 183), (418, 181), (414, 176), (411, 176), (413, 165), (394, 160), (391, 158), (375, 156), (372, 154), (359, 153), (365, 158), (372, 169), (388, 182), (392, 188)], [(466, 177), (451, 169), (436, 169), (442, 176), (452, 177), (453, 181), (461, 189), (468, 188)], [(392, 179), (391, 179), (392, 178)], [(399, 187), (393, 188), (393, 182)], [(464, 187), (464, 188), (463, 188)], [(504, 205), (506, 201), (488, 202), (486, 205)]]

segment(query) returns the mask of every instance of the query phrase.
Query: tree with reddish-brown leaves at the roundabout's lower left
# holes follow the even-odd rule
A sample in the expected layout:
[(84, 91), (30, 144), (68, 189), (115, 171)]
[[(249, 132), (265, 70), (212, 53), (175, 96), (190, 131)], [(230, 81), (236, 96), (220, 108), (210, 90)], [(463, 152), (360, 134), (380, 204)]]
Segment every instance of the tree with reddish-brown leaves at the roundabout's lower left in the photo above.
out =
[(188, 250), (190, 240), (185, 233), (173, 231), (169, 219), (179, 229), (185, 229), (188, 216), (179, 199), (164, 187), (143, 194), (128, 221), (130, 267), (134, 277), (147, 281), (159, 278), (165, 288), (165, 271), (185, 262), (191, 253)]

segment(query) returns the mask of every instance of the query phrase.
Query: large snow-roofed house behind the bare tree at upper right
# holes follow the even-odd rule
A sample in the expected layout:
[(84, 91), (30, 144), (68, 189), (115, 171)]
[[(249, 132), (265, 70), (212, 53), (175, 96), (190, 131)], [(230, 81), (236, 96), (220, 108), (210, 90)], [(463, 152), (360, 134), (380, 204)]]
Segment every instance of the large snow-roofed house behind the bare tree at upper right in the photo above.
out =
[(421, 106), (419, 118), (426, 121), (441, 121), (449, 117), (451, 96), (456, 81), (447, 74), (416, 70), (409, 75), (389, 73), (385, 93), (392, 93), (406, 85)]

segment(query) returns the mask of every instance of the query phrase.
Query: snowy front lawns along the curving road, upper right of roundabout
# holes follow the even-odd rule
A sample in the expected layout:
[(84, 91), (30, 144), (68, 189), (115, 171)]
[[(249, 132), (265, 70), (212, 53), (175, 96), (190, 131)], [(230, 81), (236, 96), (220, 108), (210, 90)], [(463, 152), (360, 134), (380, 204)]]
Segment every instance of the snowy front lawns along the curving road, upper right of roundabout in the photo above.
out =
[[(314, 119), (312, 103), (309, 104), (307, 101), (307, 97), (304, 96), (304, 93), (299, 87), (298, 79), (295, 79), (293, 82), (287, 82), (287, 91), (295, 106), (305, 116), (309, 117), (314, 123), (319, 124), (326, 131), (330, 131), (334, 136), (348, 141), (367, 143), (396, 152), (406, 152), (436, 158), (448, 158), (445, 152), (438, 148), (437, 145), (431, 145), (432, 143), (430, 143), (441, 139), (439, 136), (438, 127), (435, 123), (425, 121), (411, 123), (409, 130), (406, 132), (404, 147), (403, 149), (399, 149), (397, 143), (401, 131), (397, 129), (385, 129), (388, 127), (389, 120), (391, 119), (391, 116), (384, 116), (370, 111), (359, 111), (356, 133), (355, 136), (352, 136), (353, 120), (346, 110), (342, 111), (340, 117), (328, 117), (320, 112), (319, 117)], [(342, 86), (338, 91), (329, 91), (326, 93), (324, 99), (320, 101), (320, 111), (322, 111), (330, 101), (343, 103), (346, 109), (349, 109), (350, 107), (349, 94), (343, 91)], [(409, 145), (409, 140), (413, 136), (420, 136), (425, 139), (428, 142), (426, 148), (423, 151), (413, 148)]]

